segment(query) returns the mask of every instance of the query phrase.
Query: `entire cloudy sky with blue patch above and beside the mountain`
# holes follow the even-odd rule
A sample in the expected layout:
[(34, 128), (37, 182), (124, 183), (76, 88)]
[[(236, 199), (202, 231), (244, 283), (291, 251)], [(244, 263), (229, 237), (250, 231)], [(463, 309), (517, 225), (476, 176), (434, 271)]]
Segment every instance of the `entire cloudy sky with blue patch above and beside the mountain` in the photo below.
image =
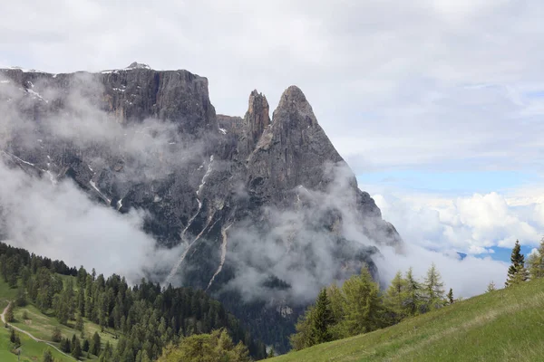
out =
[(218, 113), (296, 84), (407, 243), (508, 261), (544, 235), (539, 0), (22, 0), (0, 66), (144, 62), (209, 79)]

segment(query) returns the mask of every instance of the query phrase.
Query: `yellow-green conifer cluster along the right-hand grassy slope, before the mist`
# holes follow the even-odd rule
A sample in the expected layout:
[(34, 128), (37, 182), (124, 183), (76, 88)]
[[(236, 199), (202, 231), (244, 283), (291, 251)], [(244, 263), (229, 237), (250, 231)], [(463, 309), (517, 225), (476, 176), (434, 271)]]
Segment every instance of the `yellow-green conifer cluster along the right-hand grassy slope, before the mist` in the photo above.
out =
[(401, 320), (452, 304), (453, 291), (445, 294), (436, 266), (418, 281), (410, 268), (398, 271), (386, 291), (363, 269), (342, 286), (332, 284), (319, 292), (316, 302), (296, 323), (290, 338), (294, 349), (308, 348), (335, 339), (383, 329)]

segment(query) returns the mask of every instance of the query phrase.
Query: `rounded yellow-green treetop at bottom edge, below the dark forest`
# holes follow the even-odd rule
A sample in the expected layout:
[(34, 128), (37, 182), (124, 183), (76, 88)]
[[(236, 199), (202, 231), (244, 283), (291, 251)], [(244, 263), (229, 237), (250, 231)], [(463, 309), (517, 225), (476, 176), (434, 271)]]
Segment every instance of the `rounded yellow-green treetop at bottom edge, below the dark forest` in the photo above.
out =
[(248, 348), (243, 344), (234, 345), (225, 329), (211, 334), (193, 335), (183, 338), (180, 345), (168, 346), (157, 362), (248, 362)]

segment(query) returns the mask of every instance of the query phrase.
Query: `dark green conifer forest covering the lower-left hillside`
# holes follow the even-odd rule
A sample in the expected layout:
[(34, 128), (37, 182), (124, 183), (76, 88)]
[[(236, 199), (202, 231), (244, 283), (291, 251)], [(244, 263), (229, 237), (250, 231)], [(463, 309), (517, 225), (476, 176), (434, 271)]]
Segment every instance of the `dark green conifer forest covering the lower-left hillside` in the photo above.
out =
[[(94, 270), (69, 268), (63, 262), (53, 262), (5, 243), (0, 243), (0, 273), (12, 288), (19, 287), (15, 304), (32, 302), (39, 310), (53, 313), (60, 323), (81, 330), (82, 338), (58, 340), (61, 348), (73, 355), (89, 352), (99, 356), (99, 361), (151, 361), (170, 344), (222, 329), (234, 343), (241, 342), (249, 356), (267, 357), (265, 345), (252, 338), (238, 319), (204, 291), (171, 285), (161, 288), (159, 283), (144, 279), (129, 286), (119, 275), (106, 279)], [(94, 336), (87, 336), (84, 319), (102, 330), (112, 329), (119, 338), (117, 347), (102, 346)]]

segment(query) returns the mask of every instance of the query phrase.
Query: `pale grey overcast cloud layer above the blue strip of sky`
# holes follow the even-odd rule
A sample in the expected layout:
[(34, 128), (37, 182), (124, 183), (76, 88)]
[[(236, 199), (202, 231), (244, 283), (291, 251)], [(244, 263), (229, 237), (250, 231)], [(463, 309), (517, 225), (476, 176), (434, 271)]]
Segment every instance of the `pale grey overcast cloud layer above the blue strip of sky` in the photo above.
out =
[(357, 171), (368, 162), (520, 169), (542, 164), (534, 118), (543, 98), (528, 96), (544, 89), (542, 6), (165, 1), (151, 11), (140, 0), (27, 1), (0, 14), (2, 62), (56, 72), (135, 60), (184, 68), (209, 77), (216, 108), (232, 115), (245, 112), (248, 90), (275, 104), (295, 83)]

